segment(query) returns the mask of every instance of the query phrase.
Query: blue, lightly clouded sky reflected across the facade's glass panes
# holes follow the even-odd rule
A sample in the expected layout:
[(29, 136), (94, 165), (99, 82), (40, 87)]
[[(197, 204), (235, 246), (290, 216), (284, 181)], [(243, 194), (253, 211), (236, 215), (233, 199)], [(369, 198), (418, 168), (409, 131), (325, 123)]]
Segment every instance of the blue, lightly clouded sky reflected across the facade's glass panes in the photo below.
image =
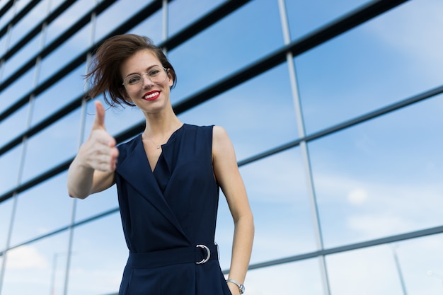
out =
[[(3, 2), (0, 1), (0, 6)], [(174, 20), (171, 34), (196, 14), (220, 1), (176, 2), (170, 11)], [(332, 6), (330, 1), (287, 1), (293, 40), (365, 2), (341, 0)], [(131, 3), (142, 6), (144, 1)], [(202, 11), (186, 9), (190, 5), (205, 8)], [(231, 21), (215, 25), (212, 30), (170, 52), (171, 62), (178, 71), (178, 86), (171, 93), (173, 103), (283, 45), (277, 2), (259, 0), (248, 6), (248, 9), (236, 11)], [(96, 38), (106, 32), (110, 23), (117, 25), (118, 7), (100, 18)], [(81, 6), (77, 9), (79, 13), (85, 11)], [(297, 57), (295, 65), (306, 132), (316, 132), (440, 86), (443, 76), (442, 15), (442, 1), (408, 1), (395, 11)], [(144, 34), (158, 42), (161, 40), (160, 19), (159, 13), (137, 26), (132, 33), (152, 32)], [(57, 28), (65, 25), (69, 25), (69, 19), (61, 18), (48, 30), (48, 40), (57, 35)], [(52, 64), (63, 60), (63, 54), (78, 52), (79, 47), (85, 47), (88, 42), (84, 35), (79, 35), (52, 54), (42, 64), (41, 79), (51, 72)], [(19, 57), (11, 64), (21, 62)], [(192, 69), (192, 75), (180, 76), (189, 69)], [(59, 83), (39, 98), (35, 103), (33, 122), (78, 96), (83, 88), (81, 74), (84, 71), (81, 66), (65, 79), (65, 83)], [(32, 81), (32, 74), (24, 79)], [(1, 98), (14, 96), (20, 91), (25, 90), (11, 86), (1, 93)], [(6, 107), (7, 103), (0, 110)], [(442, 111), (441, 97), (433, 98), (309, 144), (326, 248), (442, 224), (443, 157), (439, 151), (442, 146)], [(91, 115), (86, 117), (86, 130), (91, 127), (93, 112), (93, 106), (88, 105)], [(16, 134), (10, 131), (12, 127), (25, 128), (23, 116), (26, 113), (25, 109), (20, 110), (11, 120), (2, 122), (1, 144)], [(238, 160), (242, 160), (297, 138), (293, 114), (287, 65), (282, 64), (195, 110), (183, 113), (180, 119), (197, 125), (222, 125), (234, 142)], [(32, 178), (75, 153), (79, 144), (79, 117), (79, 112), (75, 112), (57, 123), (58, 127), (43, 132), (40, 139), (30, 140), (27, 157), (33, 161), (25, 163), (24, 179)], [(112, 134), (140, 120), (143, 117), (137, 110), (108, 110), (106, 114), (106, 125)], [(52, 151), (50, 158), (43, 154), (46, 148), (43, 139), (56, 140), (57, 149)], [(0, 165), (11, 166), (18, 156), (18, 149), (11, 151), (0, 158)], [(255, 214), (256, 238), (251, 262), (314, 250), (306, 173), (299, 149), (290, 149), (243, 166), (241, 173)], [(5, 187), (13, 187), (16, 173), (0, 170), (0, 179), (3, 180), (0, 180), (1, 189), (6, 190)], [(18, 210), (18, 230), (12, 244), (25, 241), (36, 232), (57, 229), (59, 223), (69, 222), (71, 199), (53, 196), (64, 191), (65, 179), (63, 173), (40, 189), (37, 187), (23, 193), (26, 201)], [(54, 194), (47, 193), (48, 190)], [(36, 194), (38, 199), (33, 198)], [(52, 204), (59, 210), (34, 210), (42, 203)], [(114, 190), (102, 192), (78, 202), (77, 220), (115, 206)], [(6, 234), (4, 219), (10, 207), (11, 202), (0, 207), (0, 236)], [(31, 220), (39, 222), (30, 224)], [(221, 202), (217, 239), (222, 248), (223, 269), (229, 267), (231, 231), (229, 212), (226, 204)], [(63, 233), (48, 241), (11, 251), (8, 263), (12, 267), (6, 279), (19, 284), (23, 275), (29, 274), (28, 277), (35, 278), (36, 285), (47, 282), (54, 257), (52, 248), (54, 245), (63, 248), (66, 238)], [(81, 226), (76, 231), (76, 238), (70, 282), (70, 286), (75, 287), (70, 294), (86, 294), (82, 286), (90, 288), (93, 282), (100, 284), (91, 294), (104, 294), (104, 289), (115, 291), (122, 268), (115, 265), (124, 265), (127, 255), (119, 216), (114, 214)], [(408, 294), (441, 293), (442, 281), (438, 277), (443, 274), (441, 235), (396, 246), (394, 249), (403, 267)], [(391, 245), (381, 245), (328, 257), (332, 294), (402, 294), (392, 251)], [(110, 265), (103, 265), (97, 253), (111, 253), (114, 259)], [(59, 256), (57, 288), (61, 289), (65, 261), (62, 254)], [(35, 275), (35, 270), (41, 271)], [(435, 275), (429, 276), (429, 270)], [(316, 295), (322, 294), (319, 282), (318, 261), (306, 260), (253, 270), (248, 273), (245, 284), (247, 294)], [(45, 286), (41, 288), (45, 289)]]

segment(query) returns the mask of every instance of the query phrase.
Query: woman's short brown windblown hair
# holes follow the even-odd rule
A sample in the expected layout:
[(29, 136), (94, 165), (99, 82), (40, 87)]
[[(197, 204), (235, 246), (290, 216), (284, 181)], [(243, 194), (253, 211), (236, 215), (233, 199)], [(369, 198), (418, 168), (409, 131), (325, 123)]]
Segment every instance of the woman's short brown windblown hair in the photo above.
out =
[(169, 63), (163, 50), (154, 45), (151, 39), (134, 34), (115, 35), (105, 40), (96, 51), (91, 63), (91, 71), (85, 76), (86, 79), (91, 79), (92, 84), (87, 97), (95, 98), (103, 93), (105, 102), (110, 106), (134, 106), (134, 103), (126, 99), (127, 94), (125, 86), (122, 85), (120, 65), (135, 52), (146, 49), (151, 50), (159, 59), (161, 65), (168, 69), (168, 74), (171, 74), (173, 79), (171, 88), (176, 86), (176, 71)]

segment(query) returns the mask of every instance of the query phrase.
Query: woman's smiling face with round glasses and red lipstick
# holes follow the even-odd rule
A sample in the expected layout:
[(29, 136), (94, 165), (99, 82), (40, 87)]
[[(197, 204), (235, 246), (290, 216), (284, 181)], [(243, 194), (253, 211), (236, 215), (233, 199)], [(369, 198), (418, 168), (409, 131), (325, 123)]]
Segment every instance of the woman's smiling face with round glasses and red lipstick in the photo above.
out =
[(159, 112), (171, 103), (172, 76), (151, 50), (139, 50), (122, 62), (120, 74), (125, 81), (126, 99), (144, 112)]

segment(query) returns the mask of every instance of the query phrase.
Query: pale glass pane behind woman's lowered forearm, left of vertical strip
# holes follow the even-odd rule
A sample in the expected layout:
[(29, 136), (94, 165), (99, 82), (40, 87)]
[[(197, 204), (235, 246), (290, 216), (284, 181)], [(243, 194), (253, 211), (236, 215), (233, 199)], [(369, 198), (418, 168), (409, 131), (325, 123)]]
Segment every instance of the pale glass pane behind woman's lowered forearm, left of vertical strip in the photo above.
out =
[[(251, 209), (255, 238), (251, 263), (316, 250), (311, 209), (301, 154), (292, 149), (261, 161), (241, 166)], [(222, 268), (229, 268), (232, 217), (220, 197), (217, 243)], [(226, 259), (226, 261), (224, 261)]]

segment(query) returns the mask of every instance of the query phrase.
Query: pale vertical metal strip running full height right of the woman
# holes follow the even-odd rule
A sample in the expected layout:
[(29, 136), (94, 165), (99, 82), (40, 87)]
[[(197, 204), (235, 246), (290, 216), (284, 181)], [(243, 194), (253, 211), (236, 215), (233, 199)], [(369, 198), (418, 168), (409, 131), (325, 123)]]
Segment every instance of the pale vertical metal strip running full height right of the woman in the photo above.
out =
[[(280, 9), (280, 19), (282, 21), (282, 31), (283, 31), (283, 37), (284, 37), (284, 44), (289, 45), (291, 43), (291, 35), (289, 32), (289, 22), (287, 19), (286, 5), (284, 3), (284, 0), (278, 0), (278, 4), (279, 4), (279, 9)], [(304, 138), (304, 137), (306, 137), (306, 132), (305, 132), (305, 128), (304, 128), (303, 112), (301, 110), (299, 88), (297, 85), (297, 71), (295, 69), (294, 56), (293, 56), (292, 52), (287, 52), (286, 58), (287, 58), (287, 65), (288, 65), (288, 69), (289, 69), (289, 81), (291, 83), (292, 99), (294, 100), (294, 112), (295, 112), (295, 117), (297, 120), (297, 130), (299, 132), (299, 137)], [(318, 216), (316, 192), (315, 192), (315, 188), (313, 185), (311, 161), (309, 158), (309, 149), (306, 144), (306, 141), (301, 141), (299, 146), (300, 146), (300, 150), (301, 150), (301, 156), (304, 161), (304, 169), (305, 169), (306, 178), (307, 178), (309, 201), (311, 204), (311, 216), (312, 216), (312, 220), (313, 220), (313, 230), (314, 230), (314, 236), (316, 238), (317, 250), (323, 250), (324, 249), (323, 236), (321, 234), (321, 224), (320, 224), (320, 219)], [(321, 271), (323, 292), (324, 292), (324, 294), (329, 295), (330, 288), (329, 288), (328, 272), (326, 269), (325, 256), (319, 255), (318, 259), (320, 262), (320, 271)]]

